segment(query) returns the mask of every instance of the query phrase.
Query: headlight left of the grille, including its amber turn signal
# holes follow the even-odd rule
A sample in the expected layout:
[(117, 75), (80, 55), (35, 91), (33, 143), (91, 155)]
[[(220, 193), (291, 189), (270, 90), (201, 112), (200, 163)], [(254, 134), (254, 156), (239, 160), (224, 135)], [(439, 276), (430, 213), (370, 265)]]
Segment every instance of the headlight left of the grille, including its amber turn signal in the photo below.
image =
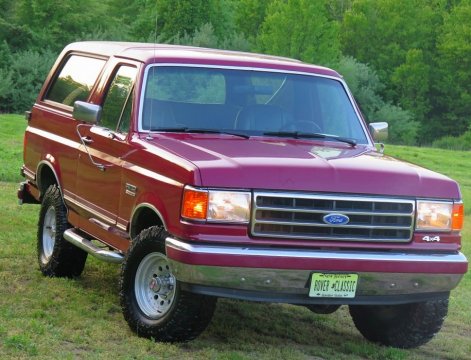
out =
[(191, 220), (208, 222), (248, 223), (250, 192), (202, 190), (186, 187), (181, 215)]

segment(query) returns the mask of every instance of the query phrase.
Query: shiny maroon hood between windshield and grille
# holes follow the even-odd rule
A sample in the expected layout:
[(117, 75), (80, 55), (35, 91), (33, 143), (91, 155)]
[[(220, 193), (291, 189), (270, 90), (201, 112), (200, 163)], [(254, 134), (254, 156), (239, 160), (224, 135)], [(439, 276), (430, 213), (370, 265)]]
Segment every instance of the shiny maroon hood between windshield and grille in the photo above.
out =
[(460, 198), (446, 176), (363, 145), (209, 134), (160, 134), (150, 142), (195, 164), (195, 185), (205, 187)]

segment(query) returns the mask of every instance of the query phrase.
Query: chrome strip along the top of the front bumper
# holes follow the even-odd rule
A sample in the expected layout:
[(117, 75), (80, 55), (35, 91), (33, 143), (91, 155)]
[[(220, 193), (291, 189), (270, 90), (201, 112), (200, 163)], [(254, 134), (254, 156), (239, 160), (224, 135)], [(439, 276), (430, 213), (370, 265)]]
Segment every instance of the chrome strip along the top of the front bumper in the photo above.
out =
[(416, 254), (406, 252), (359, 252), (351, 250), (309, 250), (309, 249), (266, 249), (257, 247), (220, 246), (189, 244), (171, 237), (165, 240), (167, 247), (194, 254), (236, 255), (236, 256), (269, 256), (288, 257), (299, 259), (332, 259), (332, 260), (360, 260), (360, 261), (394, 261), (394, 262), (429, 262), (429, 263), (463, 263), (466, 257), (458, 252)]

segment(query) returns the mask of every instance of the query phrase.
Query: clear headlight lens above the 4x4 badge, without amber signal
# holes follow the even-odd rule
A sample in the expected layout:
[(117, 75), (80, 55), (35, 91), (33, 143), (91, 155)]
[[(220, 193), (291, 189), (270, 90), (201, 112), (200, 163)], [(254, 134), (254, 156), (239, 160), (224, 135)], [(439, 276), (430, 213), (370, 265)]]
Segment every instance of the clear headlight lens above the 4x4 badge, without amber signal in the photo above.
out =
[(450, 231), (452, 218), (452, 202), (417, 201), (417, 230)]

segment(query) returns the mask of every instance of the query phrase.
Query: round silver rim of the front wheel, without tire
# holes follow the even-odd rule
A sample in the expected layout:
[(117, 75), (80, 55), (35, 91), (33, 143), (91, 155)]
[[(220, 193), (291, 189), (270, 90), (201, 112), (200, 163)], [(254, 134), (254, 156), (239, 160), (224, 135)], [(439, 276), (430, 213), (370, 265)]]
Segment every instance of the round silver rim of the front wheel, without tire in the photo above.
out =
[(151, 319), (159, 319), (170, 310), (175, 277), (165, 255), (153, 252), (142, 259), (136, 271), (134, 294), (140, 310)]

